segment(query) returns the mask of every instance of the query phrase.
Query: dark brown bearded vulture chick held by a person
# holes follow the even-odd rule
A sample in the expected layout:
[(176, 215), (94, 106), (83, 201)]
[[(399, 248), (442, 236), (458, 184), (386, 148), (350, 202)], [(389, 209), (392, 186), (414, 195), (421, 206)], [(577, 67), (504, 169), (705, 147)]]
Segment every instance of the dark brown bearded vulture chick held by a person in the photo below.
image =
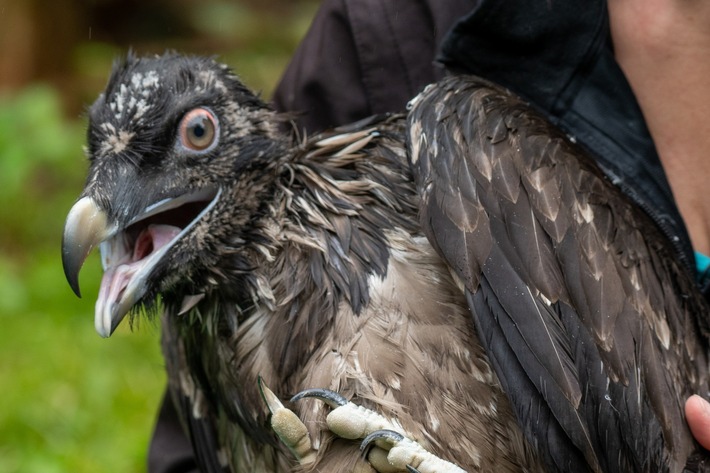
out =
[[(363, 437), (379, 471), (707, 469), (682, 406), (708, 393), (708, 308), (666, 238), (506, 90), (453, 76), (411, 105), (297, 139), (170, 53), (91, 107), (65, 272), (78, 294), (99, 246), (104, 337), (162, 314), (202, 470), (372, 471)], [(301, 391), (327, 403), (273, 394)], [(406, 442), (452, 464), (378, 457)]]

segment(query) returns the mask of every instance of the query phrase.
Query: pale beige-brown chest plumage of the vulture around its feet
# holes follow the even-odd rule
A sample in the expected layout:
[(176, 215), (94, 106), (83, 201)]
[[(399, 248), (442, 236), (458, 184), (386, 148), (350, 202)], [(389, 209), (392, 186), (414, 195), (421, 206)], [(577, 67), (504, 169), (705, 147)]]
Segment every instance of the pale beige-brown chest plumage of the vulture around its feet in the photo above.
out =
[[(287, 304), (259, 305), (215, 347), (223, 355), (219, 358), (229, 361), (210, 377), (232, 379), (234, 392), (246, 393), (235, 411), (243, 418), (241, 426), (226, 412), (216, 416), (222, 426), (220, 452), (233, 465), (232, 471), (292, 471), (290, 452), (258, 440), (272, 435), (265, 421), (268, 410), (257, 391), (258, 377), (284, 397), (309, 387), (337, 391), (393, 419), (426, 448), (467, 471), (542, 471), (480, 347), (454, 276), (423, 235), (393, 230), (387, 232), (387, 241), (391, 253), (386, 275), (368, 278), (369, 303), (356, 315), (341, 302), (338, 316), (319, 331), (321, 342), (314, 340), (308, 356), (287, 376), (277, 366), (278, 347), (269, 343), (273, 338), (269, 334), (285, 325)], [(269, 297), (280, 292), (263, 290), (262, 295)], [(206, 315), (202, 323), (216, 327), (214, 317)], [(209, 343), (207, 339), (211, 336), (204, 343)], [(185, 367), (168, 370), (173, 371), (170, 379), (191, 376)], [(201, 404), (204, 393), (193, 383), (182, 383), (179, 389), (197, 401), (193, 414), (214, 415), (199, 412), (209, 408)], [(293, 408), (319, 449), (314, 467), (322, 471), (362, 467), (357, 443), (327, 431), (327, 406), (303, 401)]]

